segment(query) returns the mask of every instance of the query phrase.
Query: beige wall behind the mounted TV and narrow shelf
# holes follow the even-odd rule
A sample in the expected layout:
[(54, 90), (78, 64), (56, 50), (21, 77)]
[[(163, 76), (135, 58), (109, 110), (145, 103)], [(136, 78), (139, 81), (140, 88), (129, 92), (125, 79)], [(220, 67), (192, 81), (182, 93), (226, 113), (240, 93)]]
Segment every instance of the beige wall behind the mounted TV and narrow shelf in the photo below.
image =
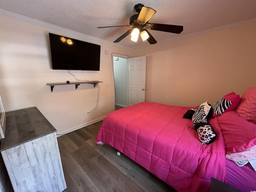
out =
[[(124, 47), (104, 44), (61, 28), (52, 29), (38, 24), (0, 16), (0, 92), (6, 111), (36, 106), (56, 128), (65, 133), (104, 118), (114, 111), (114, 77), (112, 52), (130, 54)], [(98, 88), (92, 84), (54, 86), (48, 82), (70, 82), (76, 79), (67, 70), (52, 70), (48, 33), (101, 45), (100, 71), (75, 71), (80, 80), (99, 80), (100, 100), (96, 106)], [(105, 50), (109, 54), (104, 53)], [(110, 86), (106, 86), (109, 83)]]

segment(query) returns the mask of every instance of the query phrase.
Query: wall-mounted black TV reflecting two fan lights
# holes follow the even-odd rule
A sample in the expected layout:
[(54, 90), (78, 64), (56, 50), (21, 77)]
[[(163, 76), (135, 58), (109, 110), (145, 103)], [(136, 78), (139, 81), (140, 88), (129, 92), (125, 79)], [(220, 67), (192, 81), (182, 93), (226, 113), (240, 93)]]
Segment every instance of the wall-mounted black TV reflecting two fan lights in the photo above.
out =
[(52, 69), (100, 70), (100, 45), (49, 33)]

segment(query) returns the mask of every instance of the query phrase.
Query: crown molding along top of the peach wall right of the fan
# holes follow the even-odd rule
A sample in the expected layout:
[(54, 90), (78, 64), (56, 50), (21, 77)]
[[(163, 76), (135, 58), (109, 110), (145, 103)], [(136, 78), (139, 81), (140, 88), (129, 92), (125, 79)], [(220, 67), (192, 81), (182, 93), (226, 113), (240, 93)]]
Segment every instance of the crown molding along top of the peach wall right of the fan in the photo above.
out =
[[(236, 23), (232, 23), (232, 24), (227, 24), (227, 25), (223, 25), (223, 26), (219, 26), (219, 27), (215, 27), (215, 28), (210, 28), (210, 29), (206, 29), (206, 30), (202, 30), (202, 31), (198, 31), (198, 32), (194, 32), (194, 33), (190, 33), (190, 34), (186, 34), (186, 35), (181, 35), (181, 36), (174, 37), (174, 38), (161, 40), (161, 41), (158, 41), (157, 44), (163, 44), (163, 43), (168, 43), (168, 42), (172, 42), (172, 41), (176, 41), (176, 40), (190, 38), (190, 37), (194, 37), (194, 36), (198, 36), (198, 35), (202, 35), (202, 34), (207, 34), (207, 33), (218, 31), (218, 30), (224, 30), (224, 29), (228, 29), (228, 28), (241, 26), (241, 25), (244, 25), (244, 24), (252, 23), (252, 22), (256, 22), (256, 18), (252, 18), (252, 19), (249, 19), (249, 20), (244, 20), (244, 21), (240, 21), (240, 22), (236, 22)], [(146, 46), (149, 46), (149, 45), (144, 45), (143, 44), (143, 45), (134, 46), (132, 48), (142, 48), (142, 47), (146, 47)]]

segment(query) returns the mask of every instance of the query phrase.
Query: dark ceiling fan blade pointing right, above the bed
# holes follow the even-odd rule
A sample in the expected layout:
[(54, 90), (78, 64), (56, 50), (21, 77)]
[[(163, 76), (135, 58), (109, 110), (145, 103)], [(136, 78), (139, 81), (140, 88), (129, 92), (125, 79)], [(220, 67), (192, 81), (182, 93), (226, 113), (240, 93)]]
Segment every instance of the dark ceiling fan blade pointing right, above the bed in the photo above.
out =
[(145, 28), (151, 29), (151, 30), (169, 32), (169, 33), (177, 33), (177, 34), (180, 34), (183, 31), (183, 26), (158, 24), (158, 23), (148, 23), (145, 25)]

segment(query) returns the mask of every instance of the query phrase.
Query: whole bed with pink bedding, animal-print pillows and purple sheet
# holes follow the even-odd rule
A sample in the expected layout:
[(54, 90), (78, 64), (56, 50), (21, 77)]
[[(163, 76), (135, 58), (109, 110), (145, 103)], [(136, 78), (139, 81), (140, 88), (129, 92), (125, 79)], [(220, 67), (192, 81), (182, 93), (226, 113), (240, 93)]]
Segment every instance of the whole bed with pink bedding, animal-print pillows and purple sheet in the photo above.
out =
[[(256, 107), (256, 87), (251, 89)], [(256, 109), (250, 108), (254, 116), (250, 119), (238, 113), (246, 104), (245, 96), (246, 92), (242, 99), (232, 92), (213, 106), (204, 102), (198, 108), (141, 102), (106, 116), (96, 143), (116, 148), (178, 192), (209, 192), (212, 177), (250, 192), (256, 190), (255, 170), (225, 158), (256, 145)], [(191, 112), (191, 119), (184, 118)], [(201, 140), (202, 127), (211, 130), (206, 144)]]

